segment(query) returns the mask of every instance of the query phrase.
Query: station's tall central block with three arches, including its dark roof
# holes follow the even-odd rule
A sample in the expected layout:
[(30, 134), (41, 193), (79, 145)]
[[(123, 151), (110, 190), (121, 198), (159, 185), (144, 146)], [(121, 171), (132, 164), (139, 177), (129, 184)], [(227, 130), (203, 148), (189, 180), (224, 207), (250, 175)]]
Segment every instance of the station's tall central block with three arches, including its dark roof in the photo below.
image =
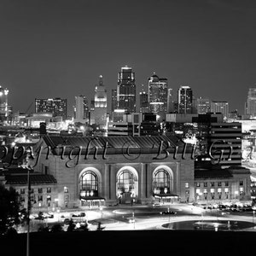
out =
[(30, 165), (55, 177), (58, 207), (195, 198), (192, 147), (177, 137), (45, 136), (34, 150)]

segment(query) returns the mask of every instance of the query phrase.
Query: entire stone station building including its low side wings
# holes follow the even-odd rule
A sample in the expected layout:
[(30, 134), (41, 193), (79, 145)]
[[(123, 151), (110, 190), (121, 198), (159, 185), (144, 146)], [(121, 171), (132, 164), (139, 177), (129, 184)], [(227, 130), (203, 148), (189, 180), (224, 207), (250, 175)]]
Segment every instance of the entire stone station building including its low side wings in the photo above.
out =
[[(251, 200), (247, 168), (198, 167), (195, 148), (175, 136), (44, 136), (29, 149), (34, 209)], [(26, 173), (0, 172), (0, 183), (14, 187), (25, 207)]]

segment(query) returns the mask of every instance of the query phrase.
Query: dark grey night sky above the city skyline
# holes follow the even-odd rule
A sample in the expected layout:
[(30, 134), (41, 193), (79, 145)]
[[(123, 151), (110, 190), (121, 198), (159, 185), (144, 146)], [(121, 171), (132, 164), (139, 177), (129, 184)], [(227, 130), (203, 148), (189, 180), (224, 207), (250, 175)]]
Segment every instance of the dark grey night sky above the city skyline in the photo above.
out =
[(100, 75), (110, 96), (125, 65), (137, 92), (155, 72), (175, 93), (189, 85), (240, 113), (256, 84), (255, 0), (1, 0), (0, 35), (0, 84), (14, 112), (61, 97), (71, 114)]

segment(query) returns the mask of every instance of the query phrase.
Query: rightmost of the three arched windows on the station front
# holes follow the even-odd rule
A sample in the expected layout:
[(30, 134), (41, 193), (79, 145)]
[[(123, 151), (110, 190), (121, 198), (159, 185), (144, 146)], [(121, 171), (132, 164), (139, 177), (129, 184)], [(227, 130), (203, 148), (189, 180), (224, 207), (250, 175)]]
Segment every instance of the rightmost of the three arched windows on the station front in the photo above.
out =
[(170, 174), (160, 169), (154, 173), (154, 194), (170, 194)]

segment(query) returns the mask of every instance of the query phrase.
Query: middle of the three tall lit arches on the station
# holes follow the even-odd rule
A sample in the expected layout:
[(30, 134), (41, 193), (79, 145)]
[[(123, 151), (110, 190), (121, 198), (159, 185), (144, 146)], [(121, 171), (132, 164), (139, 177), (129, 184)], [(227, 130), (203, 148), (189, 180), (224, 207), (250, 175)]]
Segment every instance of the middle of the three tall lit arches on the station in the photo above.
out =
[(137, 171), (125, 166), (117, 173), (117, 198), (119, 204), (135, 203), (137, 200)]

